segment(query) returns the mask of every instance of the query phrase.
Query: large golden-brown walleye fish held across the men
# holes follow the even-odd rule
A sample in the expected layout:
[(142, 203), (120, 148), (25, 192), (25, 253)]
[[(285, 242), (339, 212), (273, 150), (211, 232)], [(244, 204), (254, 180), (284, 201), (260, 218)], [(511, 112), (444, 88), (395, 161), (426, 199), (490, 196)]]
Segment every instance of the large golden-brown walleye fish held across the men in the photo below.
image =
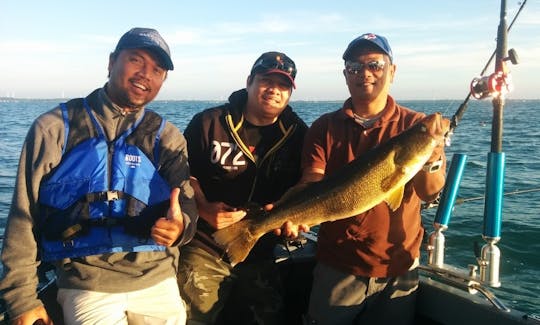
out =
[(214, 239), (235, 265), (247, 257), (262, 235), (286, 221), (318, 225), (360, 214), (382, 201), (395, 211), (405, 184), (444, 141), (449, 125), (440, 113), (429, 115), (329, 177), (286, 195), (265, 215), (216, 231)]

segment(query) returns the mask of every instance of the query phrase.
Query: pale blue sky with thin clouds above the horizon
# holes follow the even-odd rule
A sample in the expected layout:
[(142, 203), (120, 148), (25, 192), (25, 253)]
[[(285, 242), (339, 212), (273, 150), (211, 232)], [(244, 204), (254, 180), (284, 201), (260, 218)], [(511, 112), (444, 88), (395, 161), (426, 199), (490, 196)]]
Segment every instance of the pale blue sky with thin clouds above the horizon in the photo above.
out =
[[(507, 1), (508, 23), (518, 8)], [(120, 36), (139, 26), (171, 47), (175, 70), (158, 99), (224, 100), (271, 50), (297, 64), (293, 100), (345, 99), (341, 55), (364, 32), (390, 41), (394, 97), (463, 99), (495, 50), (499, 13), (498, 0), (0, 0), (0, 96), (85, 96), (106, 82)], [(527, 1), (508, 48), (520, 64), (507, 97), (540, 98), (540, 0)]]

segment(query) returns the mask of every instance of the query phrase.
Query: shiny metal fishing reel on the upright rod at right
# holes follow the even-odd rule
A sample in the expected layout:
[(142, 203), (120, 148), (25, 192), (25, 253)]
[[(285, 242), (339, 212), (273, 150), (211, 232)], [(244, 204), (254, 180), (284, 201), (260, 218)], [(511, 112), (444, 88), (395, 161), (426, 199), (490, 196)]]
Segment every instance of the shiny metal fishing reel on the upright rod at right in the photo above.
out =
[(514, 49), (508, 51), (508, 57), (503, 59), (501, 71), (496, 71), (489, 76), (474, 78), (471, 82), (471, 95), (476, 99), (484, 99), (491, 96), (506, 94), (513, 90), (512, 77), (508, 73), (504, 61), (518, 64), (518, 56)]

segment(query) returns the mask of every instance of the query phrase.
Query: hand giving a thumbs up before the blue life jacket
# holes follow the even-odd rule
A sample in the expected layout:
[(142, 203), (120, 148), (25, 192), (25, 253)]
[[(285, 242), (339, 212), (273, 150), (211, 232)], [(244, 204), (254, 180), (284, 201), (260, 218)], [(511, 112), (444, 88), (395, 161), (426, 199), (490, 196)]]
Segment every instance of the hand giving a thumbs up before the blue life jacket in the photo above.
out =
[(170, 247), (182, 235), (184, 231), (184, 217), (180, 208), (180, 189), (175, 187), (171, 191), (171, 206), (167, 211), (166, 218), (159, 218), (154, 223), (150, 235), (159, 245)]

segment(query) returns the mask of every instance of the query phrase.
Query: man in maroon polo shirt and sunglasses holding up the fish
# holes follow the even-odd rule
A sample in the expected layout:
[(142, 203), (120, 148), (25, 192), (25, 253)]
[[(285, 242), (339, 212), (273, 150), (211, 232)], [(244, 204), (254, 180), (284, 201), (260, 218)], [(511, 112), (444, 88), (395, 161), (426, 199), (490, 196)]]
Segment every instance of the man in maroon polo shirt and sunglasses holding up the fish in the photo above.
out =
[[(424, 117), (388, 94), (396, 65), (386, 38), (364, 34), (343, 54), (351, 95), (318, 118), (302, 153), (301, 183), (319, 181)], [(414, 318), (416, 266), (423, 228), (421, 201), (434, 200), (445, 181), (443, 145), (405, 187), (401, 206), (385, 202), (319, 230), (310, 324), (408, 324)]]

